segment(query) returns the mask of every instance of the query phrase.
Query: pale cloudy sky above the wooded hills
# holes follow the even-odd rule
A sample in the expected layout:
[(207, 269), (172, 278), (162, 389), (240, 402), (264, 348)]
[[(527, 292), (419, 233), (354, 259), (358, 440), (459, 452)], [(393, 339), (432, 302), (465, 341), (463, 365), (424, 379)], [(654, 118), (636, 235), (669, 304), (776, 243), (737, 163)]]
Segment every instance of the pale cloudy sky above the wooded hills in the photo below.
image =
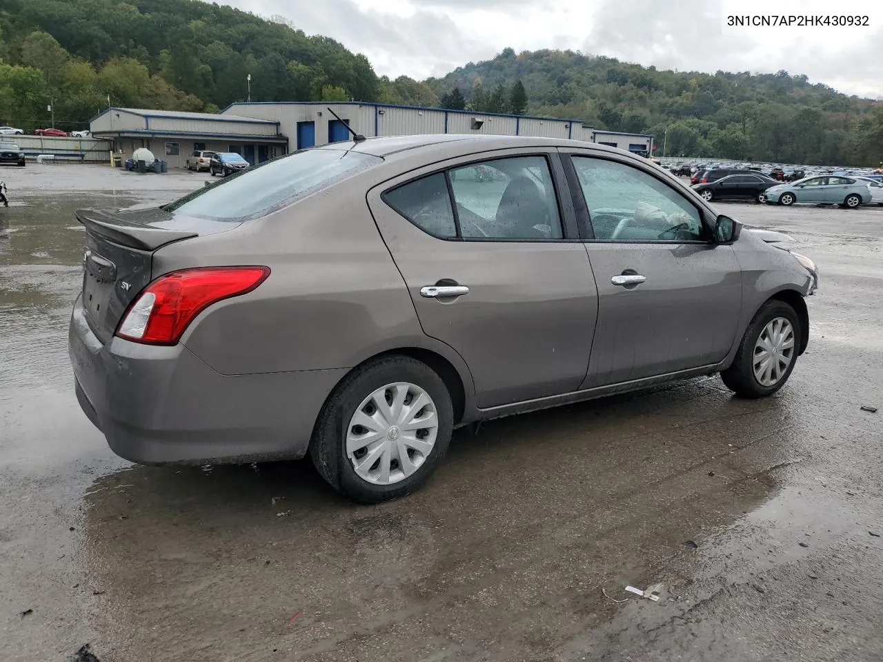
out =
[[(516, 51), (574, 49), (680, 71), (805, 73), (883, 98), (883, 0), (220, 0), (364, 53), (390, 78)], [(729, 14), (866, 15), (870, 26), (729, 28)]]

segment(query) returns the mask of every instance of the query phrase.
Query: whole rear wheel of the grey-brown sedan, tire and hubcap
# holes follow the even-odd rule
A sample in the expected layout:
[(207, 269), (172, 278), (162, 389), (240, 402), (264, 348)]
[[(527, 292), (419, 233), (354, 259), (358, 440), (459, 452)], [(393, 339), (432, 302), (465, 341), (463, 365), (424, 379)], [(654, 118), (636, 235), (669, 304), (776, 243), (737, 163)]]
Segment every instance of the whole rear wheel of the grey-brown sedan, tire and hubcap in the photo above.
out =
[(330, 395), (310, 455), (321, 477), (351, 499), (396, 499), (429, 478), (448, 449), (453, 418), (438, 374), (411, 357), (382, 357)]

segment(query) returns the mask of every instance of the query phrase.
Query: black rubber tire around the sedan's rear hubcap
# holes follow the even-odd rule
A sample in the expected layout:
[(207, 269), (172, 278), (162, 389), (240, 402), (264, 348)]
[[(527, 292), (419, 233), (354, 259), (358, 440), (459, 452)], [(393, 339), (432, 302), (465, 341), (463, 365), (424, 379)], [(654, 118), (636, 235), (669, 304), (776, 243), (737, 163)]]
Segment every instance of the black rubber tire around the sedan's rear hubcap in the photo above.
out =
[[(412, 456), (410, 449), (406, 451), (409, 462), (413, 457), (417, 465), (416, 470), (413, 470), (410, 475), (404, 478), (398, 477), (397, 473), (404, 475), (404, 471), (399, 471), (396, 466), (396, 468), (388, 470), (389, 482), (384, 483), (382, 478), (379, 478), (378, 482), (372, 482), (358, 474), (353, 462), (358, 462), (359, 452), (364, 452), (365, 455), (361, 456), (366, 457), (368, 452), (376, 451), (368, 451), (367, 447), (356, 448), (352, 452), (351, 459), (347, 453), (347, 435), (351, 431), (360, 434), (358, 432), (360, 426), (358, 424), (352, 425), (353, 417), (358, 413), (360, 405), (366, 405), (366, 411), (370, 411), (374, 405), (369, 398), (380, 393), (381, 389), (387, 386), (390, 387), (387, 391), (389, 395), (393, 393), (393, 387), (407, 387), (407, 392), (411, 395), (411, 387), (413, 387), (414, 390), (422, 390), (428, 396), (430, 404), (413, 413), (424, 412), (424, 415), (427, 415), (429, 407), (434, 407), (436, 421), (434, 445), (427, 455), (420, 455), (415, 450)], [(374, 408), (374, 412), (375, 416), (380, 414), (376, 408)], [(445, 386), (438, 374), (427, 365), (411, 357), (381, 357), (356, 368), (328, 396), (313, 430), (310, 456), (313, 458), (313, 464), (321, 477), (325, 478), (328, 484), (338, 492), (362, 503), (378, 503), (411, 493), (422, 485), (426, 478), (429, 478), (448, 450), (453, 426), (454, 412), (448, 387)], [(384, 425), (378, 426), (381, 433), (383, 427)], [(367, 433), (366, 428), (362, 429)], [(377, 441), (391, 445), (390, 448), (395, 449), (397, 456), (397, 448), (404, 448), (404, 444), (399, 441), (396, 448), (396, 440), (399, 439), (400, 433), (397, 432), (397, 427), (395, 429), (396, 437), (390, 436), (393, 433), (393, 428), (390, 427), (389, 433)], [(415, 431), (415, 437), (419, 439), (419, 432)], [(377, 470), (382, 472), (380, 465), (384, 459), (389, 461), (386, 466), (391, 467), (393, 464), (399, 463), (399, 460), (389, 459), (389, 457), (390, 455), (387, 453), (382, 453), (371, 467), (363, 467), (363, 473), (375, 465), (378, 467)], [(417, 459), (419, 459), (419, 463), (416, 462)], [(396, 471), (395, 476), (392, 471)], [(382, 473), (379, 476), (382, 477)], [(395, 482), (391, 478), (396, 478)]]

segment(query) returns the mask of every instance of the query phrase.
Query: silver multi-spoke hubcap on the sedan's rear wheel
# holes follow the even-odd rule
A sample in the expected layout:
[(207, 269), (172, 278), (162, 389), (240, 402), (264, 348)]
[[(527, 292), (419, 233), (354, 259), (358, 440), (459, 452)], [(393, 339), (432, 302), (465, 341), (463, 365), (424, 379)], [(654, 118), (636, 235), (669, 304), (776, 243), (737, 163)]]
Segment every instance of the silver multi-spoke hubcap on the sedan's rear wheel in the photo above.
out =
[(346, 455), (359, 478), (392, 485), (411, 476), (432, 453), (435, 403), (422, 388), (388, 384), (368, 395), (346, 429)]

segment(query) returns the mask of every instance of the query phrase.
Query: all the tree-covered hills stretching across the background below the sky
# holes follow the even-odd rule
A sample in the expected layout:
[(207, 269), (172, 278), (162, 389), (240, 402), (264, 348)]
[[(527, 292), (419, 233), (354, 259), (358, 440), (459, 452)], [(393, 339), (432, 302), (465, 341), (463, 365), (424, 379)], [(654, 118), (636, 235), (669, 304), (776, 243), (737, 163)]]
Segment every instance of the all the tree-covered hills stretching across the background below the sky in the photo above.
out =
[(245, 101), (366, 101), (566, 117), (653, 133), (657, 151), (877, 165), (883, 102), (806, 76), (661, 71), (570, 50), (465, 64), (442, 78), (378, 76), (366, 56), (290, 20), (199, 0), (3, 0), (0, 123), (86, 128), (109, 104), (216, 112)]

